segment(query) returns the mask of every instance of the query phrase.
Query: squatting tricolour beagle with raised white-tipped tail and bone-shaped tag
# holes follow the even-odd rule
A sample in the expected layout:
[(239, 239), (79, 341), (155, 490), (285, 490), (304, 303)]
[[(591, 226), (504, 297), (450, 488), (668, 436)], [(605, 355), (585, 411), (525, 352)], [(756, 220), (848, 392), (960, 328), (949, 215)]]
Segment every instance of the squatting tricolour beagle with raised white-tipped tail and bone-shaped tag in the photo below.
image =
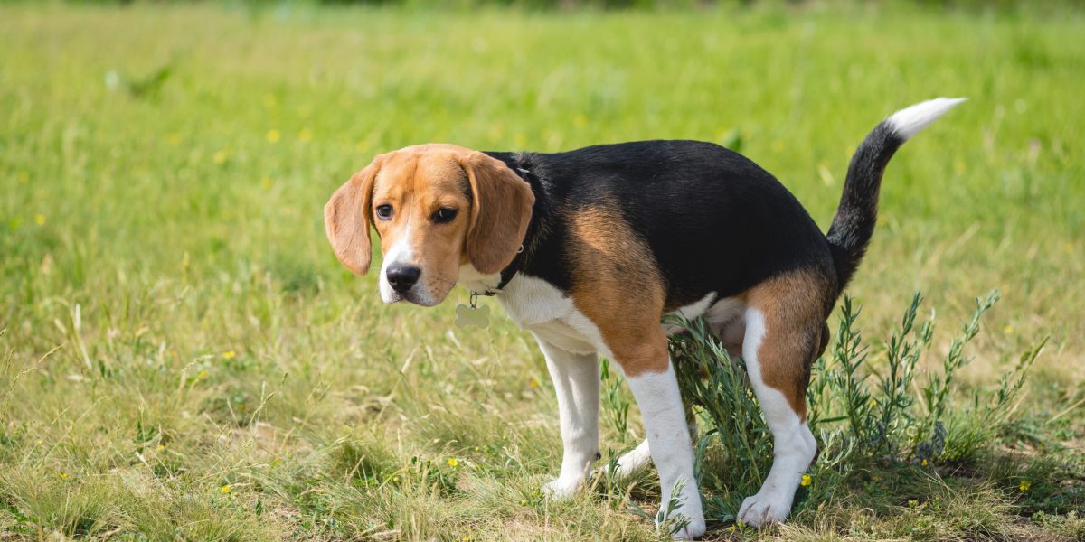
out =
[(809, 369), (826, 320), (873, 232), (894, 152), (962, 99), (940, 98), (879, 124), (852, 158), (828, 234), (767, 171), (722, 146), (642, 141), (564, 153), (423, 144), (376, 156), (324, 207), (335, 256), (361, 274), (380, 236), (384, 302), (442, 302), (454, 285), (494, 294), (546, 356), (564, 453), (545, 486), (565, 498), (599, 459), (599, 356), (633, 390), (647, 440), (620, 473), (655, 464), (704, 530), (693, 450), (661, 321), (705, 318), (741, 352), (773, 433), (775, 459), (738, 518), (787, 518), (817, 444), (806, 425)]

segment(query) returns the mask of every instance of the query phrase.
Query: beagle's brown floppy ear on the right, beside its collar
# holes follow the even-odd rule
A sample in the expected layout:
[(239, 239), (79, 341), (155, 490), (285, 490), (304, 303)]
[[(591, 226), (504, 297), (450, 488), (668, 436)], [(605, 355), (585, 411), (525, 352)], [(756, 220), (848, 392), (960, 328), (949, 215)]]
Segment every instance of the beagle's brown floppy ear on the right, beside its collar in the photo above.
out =
[(497, 273), (516, 256), (532, 218), (535, 194), (503, 162), (480, 152), (460, 158), (471, 183), (467, 254), (475, 269)]

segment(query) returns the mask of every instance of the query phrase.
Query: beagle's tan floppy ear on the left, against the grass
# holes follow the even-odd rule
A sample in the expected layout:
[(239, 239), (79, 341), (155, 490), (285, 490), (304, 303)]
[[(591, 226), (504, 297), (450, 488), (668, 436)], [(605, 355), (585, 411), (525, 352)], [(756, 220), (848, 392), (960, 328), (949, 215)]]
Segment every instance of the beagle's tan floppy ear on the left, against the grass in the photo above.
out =
[(373, 180), (381, 169), (384, 155), (373, 158), (332, 194), (324, 205), (324, 231), (335, 257), (350, 272), (365, 274), (372, 257), (369, 246), (369, 224), (373, 221)]

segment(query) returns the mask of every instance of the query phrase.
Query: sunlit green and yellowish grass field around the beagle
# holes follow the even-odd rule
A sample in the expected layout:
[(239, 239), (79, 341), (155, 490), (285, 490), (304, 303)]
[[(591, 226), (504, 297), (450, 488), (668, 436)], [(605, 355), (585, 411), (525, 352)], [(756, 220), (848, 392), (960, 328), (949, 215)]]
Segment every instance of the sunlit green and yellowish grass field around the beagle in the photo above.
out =
[[(821, 465), (788, 526), (722, 508), (709, 537), (1085, 539), (1085, 14), (893, 5), (0, 5), (0, 540), (658, 539), (628, 512), (652, 512), (651, 473), (540, 498), (561, 446), (531, 337), (452, 326), (462, 291), (381, 305), (323, 203), (419, 142), (684, 138), (740, 147), (827, 227), (866, 132), (936, 95), (970, 101), (889, 168), (850, 288), (861, 370), (919, 289), (934, 375), (1001, 293), (952, 386), (961, 416), (1044, 351), (972, 453)], [(608, 386), (618, 452), (641, 428)]]

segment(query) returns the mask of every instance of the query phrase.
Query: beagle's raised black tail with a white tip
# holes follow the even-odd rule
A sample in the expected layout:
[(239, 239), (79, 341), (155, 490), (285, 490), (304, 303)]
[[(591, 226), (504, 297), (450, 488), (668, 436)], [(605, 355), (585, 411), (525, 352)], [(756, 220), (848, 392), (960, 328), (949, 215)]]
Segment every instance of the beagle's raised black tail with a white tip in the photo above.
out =
[(840, 291), (859, 267), (878, 219), (881, 178), (893, 153), (920, 130), (941, 117), (963, 98), (936, 98), (901, 109), (867, 134), (847, 166), (844, 193), (829, 227), (829, 246), (837, 266)]

